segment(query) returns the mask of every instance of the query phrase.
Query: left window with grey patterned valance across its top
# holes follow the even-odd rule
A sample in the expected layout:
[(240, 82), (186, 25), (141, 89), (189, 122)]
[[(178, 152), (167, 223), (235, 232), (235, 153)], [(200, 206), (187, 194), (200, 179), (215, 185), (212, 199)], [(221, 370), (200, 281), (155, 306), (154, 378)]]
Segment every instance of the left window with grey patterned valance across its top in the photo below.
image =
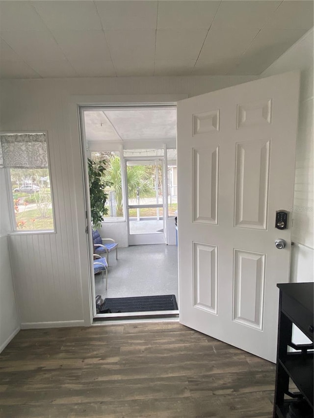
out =
[(13, 200), (13, 229), (54, 230), (47, 135), (0, 134), (0, 165), (8, 170)]

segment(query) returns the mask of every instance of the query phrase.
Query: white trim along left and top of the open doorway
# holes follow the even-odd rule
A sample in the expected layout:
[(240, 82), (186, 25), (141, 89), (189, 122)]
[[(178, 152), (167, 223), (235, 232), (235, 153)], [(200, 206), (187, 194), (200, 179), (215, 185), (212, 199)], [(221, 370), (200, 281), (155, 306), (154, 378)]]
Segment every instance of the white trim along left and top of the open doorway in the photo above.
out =
[[(75, 191), (75, 223), (77, 225), (76, 239), (78, 242), (78, 254), (76, 260), (78, 263), (78, 272), (80, 276), (80, 283), (78, 283), (78, 290), (82, 300), (82, 320), (85, 326), (94, 324), (95, 318), (95, 304), (92, 302), (92, 279), (90, 260), (90, 246), (92, 243), (92, 234), (88, 228), (88, 233), (85, 232), (85, 227), (90, 225), (90, 204), (88, 201), (88, 183), (86, 178), (86, 170), (83, 161), (83, 152), (86, 149), (84, 143), (81, 122), (80, 122), (80, 108), (81, 107), (104, 107), (104, 106), (123, 106), (123, 105), (173, 105), (177, 102), (188, 98), (187, 94), (150, 94), (150, 95), (73, 95), (68, 100), (69, 105), (69, 127), (71, 139), (71, 158), (73, 163), (73, 172), (77, 181), (74, 184)], [(80, 162), (78, 164), (78, 161)]]

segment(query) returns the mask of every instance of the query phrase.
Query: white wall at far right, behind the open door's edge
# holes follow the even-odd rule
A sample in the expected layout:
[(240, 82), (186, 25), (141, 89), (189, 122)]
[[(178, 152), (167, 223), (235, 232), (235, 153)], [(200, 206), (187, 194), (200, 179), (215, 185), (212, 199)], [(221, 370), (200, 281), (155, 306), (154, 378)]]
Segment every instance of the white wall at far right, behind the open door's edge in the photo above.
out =
[(301, 71), (299, 125), (292, 209), (292, 282), (314, 281), (313, 29), (292, 45), (262, 76)]

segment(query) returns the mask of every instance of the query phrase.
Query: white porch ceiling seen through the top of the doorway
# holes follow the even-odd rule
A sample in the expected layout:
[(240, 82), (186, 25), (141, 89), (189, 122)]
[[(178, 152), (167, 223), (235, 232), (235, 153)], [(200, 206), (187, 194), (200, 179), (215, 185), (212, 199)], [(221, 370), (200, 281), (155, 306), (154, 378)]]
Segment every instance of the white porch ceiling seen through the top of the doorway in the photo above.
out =
[(176, 107), (91, 109), (84, 111), (87, 142), (175, 141)]

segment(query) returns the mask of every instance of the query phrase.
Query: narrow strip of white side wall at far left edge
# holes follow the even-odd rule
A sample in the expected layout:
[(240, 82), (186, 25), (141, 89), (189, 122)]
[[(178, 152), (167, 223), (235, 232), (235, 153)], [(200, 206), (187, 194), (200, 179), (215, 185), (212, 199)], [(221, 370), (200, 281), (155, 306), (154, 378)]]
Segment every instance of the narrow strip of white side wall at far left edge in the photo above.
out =
[(8, 250), (10, 229), (5, 171), (0, 168), (0, 352), (20, 329)]

